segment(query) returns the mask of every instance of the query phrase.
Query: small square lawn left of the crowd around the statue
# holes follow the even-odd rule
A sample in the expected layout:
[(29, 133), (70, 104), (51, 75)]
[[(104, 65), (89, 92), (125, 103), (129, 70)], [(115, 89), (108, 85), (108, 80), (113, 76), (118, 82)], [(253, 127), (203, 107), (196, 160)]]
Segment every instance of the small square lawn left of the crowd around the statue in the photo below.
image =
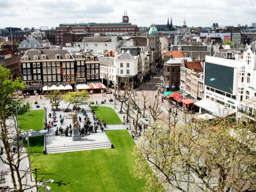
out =
[(31, 110), (23, 115), (18, 115), (18, 126), (20, 130), (44, 129), (45, 110)]

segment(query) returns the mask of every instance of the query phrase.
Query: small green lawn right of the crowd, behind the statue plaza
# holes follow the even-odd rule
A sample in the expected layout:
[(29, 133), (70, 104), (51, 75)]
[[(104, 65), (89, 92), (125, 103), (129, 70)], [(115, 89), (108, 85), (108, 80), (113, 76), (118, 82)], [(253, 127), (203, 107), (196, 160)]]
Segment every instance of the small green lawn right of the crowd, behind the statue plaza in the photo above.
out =
[(112, 108), (103, 106), (91, 106), (91, 108), (95, 111), (99, 119), (105, 120), (107, 124), (122, 124), (119, 116)]

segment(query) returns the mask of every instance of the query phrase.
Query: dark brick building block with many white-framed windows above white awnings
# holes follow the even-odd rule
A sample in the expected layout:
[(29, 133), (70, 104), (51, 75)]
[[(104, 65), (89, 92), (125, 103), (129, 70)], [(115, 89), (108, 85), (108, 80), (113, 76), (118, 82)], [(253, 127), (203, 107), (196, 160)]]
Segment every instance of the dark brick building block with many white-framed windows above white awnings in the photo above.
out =
[(21, 58), (22, 78), (27, 84), (76, 84), (99, 81), (99, 59), (70, 54), (67, 50), (29, 49)]

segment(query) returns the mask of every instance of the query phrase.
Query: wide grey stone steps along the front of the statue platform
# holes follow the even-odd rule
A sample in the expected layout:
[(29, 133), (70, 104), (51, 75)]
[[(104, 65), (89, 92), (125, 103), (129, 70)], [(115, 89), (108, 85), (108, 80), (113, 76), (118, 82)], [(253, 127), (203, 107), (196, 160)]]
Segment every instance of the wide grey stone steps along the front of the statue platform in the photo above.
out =
[(111, 148), (112, 144), (110, 142), (105, 143), (88, 143), (88, 144), (78, 144), (78, 145), (63, 145), (63, 146), (49, 146), (46, 148), (46, 154), (51, 153), (65, 153), (72, 151), (85, 151), (94, 150), (102, 148)]

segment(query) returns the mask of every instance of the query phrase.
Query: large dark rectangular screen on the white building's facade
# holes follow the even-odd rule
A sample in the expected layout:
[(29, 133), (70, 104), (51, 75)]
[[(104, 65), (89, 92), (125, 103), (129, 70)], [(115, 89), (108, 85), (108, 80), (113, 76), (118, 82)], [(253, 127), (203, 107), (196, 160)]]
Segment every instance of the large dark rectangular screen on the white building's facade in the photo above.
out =
[(233, 94), (234, 68), (205, 63), (204, 84)]

